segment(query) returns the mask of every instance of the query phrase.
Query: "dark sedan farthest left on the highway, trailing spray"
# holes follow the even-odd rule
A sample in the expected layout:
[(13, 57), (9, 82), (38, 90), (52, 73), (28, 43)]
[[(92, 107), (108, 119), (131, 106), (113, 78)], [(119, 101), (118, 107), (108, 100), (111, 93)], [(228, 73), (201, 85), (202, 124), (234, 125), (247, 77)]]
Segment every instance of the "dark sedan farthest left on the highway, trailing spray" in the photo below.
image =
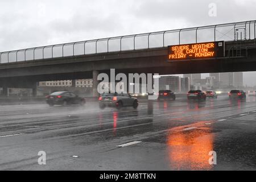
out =
[(46, 102), (49, 106), (54, 105), (85, 105), (85, 98), (77, 96), (73, 92), (61, 91), (53, 92), (46, 96)]

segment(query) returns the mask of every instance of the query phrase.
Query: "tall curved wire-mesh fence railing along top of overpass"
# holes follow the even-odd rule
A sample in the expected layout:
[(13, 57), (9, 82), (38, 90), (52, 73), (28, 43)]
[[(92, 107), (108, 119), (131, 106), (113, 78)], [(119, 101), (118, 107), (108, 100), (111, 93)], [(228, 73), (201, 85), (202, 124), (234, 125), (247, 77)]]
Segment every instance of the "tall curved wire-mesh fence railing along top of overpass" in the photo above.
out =
[(0, 63), (122, 52), (176, 44), (256, 39), (256, 20), (34, 47), (0, 53)]

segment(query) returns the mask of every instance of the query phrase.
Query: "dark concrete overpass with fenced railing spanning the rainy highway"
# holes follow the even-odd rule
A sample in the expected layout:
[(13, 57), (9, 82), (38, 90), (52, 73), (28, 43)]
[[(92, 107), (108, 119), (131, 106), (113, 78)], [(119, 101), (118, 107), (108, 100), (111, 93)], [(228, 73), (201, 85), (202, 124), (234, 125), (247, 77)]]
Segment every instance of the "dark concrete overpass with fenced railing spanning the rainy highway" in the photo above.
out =
[[(168, 61), (168, 46), (225, 41), (225, 56)], [(0, 87), (33, 88), (36, 82), (122, 73), (256, 71), (256, 20), (117, 36), (0, 53)], [(97, 84), (94, 84), (94, 90)]]

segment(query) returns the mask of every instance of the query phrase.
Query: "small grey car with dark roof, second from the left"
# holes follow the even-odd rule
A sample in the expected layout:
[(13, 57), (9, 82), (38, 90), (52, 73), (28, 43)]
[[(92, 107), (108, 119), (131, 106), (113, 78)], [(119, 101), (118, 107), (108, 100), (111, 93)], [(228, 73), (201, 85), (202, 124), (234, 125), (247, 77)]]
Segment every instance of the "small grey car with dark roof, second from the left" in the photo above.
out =
[(100, 109), (105, 107), (116, 107), (121, 109), (122, 107), (132, 106), (137, 109), (139, 102), (136, 97), (131, 97), (129, 93), (103, 93), (99, 98)]

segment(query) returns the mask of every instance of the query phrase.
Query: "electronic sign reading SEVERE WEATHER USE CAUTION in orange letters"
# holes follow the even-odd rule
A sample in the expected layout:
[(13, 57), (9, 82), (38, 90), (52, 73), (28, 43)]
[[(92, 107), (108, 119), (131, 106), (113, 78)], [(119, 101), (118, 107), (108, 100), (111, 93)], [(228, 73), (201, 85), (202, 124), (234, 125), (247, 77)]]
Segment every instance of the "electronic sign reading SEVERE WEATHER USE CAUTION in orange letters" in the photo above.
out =
[(168, 60), (224, 57), (224, 41), (168, 46)]

